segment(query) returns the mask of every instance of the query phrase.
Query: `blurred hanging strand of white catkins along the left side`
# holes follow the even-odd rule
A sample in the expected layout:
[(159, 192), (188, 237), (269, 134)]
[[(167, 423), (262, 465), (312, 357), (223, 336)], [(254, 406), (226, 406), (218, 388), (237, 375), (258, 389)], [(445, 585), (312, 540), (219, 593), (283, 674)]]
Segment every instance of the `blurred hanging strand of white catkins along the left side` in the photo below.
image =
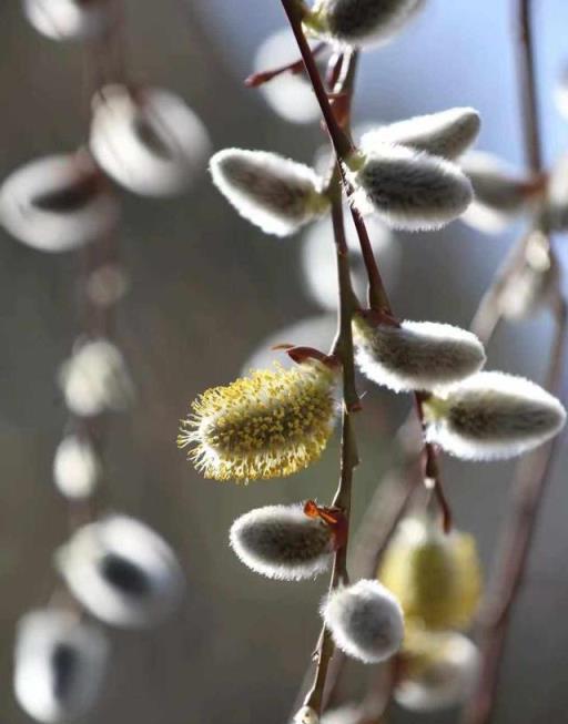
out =
[[(40, 33), (83, 41), (102, 71), (101, 52), (116, 32), (120, 4), (26, 0), (24, 11)], [(24, 615), (16, 638), (17, 698), (48, 723), (78, 717), (98, 698), (110, 646), (97, 621), (152, 626), (175, 610), (184, 590), (181, 567), (160, 536), (124, 514), (94, 516), (103, 477), (98, 431), (109, 412), (128, 408), (134, 397), (125, 360), (108, 336), (125, 275), (106, 252), (119, 218), (111, 180), (142, 195), (180, 193), (202, 171), (209, 141), (173, 93), (119, 83), (112, 69), (99, 75), (108, 83), (95, 89), (87, 147), (33, 161), (0, 188), (0, 223), (28, 246), (97, 248), (82, 252), (91, 259), (82, 285), (87, 328), (59, 375), (69, 426), (55, 451), (53, 480), (75, 521), (54, 555), (64, 589)]]

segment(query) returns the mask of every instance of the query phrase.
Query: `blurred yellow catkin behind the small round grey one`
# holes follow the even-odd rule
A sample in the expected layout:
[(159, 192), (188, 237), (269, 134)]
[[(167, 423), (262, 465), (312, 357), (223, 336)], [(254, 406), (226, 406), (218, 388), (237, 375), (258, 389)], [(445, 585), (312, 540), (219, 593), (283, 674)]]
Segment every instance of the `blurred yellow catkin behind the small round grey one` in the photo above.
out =
[(400, 523), (378, 571), (399, 600), (409, 629), (465, 629), (477, 611), (480, 568), (475, 540), (442, 533), (422, 518)]

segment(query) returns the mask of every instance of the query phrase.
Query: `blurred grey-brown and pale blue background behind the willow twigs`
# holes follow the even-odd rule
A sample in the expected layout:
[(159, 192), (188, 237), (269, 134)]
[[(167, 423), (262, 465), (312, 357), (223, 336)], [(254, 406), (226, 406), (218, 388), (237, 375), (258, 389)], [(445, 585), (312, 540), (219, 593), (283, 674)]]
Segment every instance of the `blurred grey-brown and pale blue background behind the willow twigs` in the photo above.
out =
[[(392, 44), (365, 54), (356, 121), (473, 105), (484, 122), (478, 146), (520, 164), (511, 3), (427, 4)], [(535, 4), (551, 160), (568, 145), (568, 122), (552, 98), (568, 60), (568, 6)], [(277, 0), (130, 0), (125, 7), (130, 74), (180, 93), (205, 122), (215, 149), (272, 150), (312, 162), (325, 141), (317, 123), (287, 123), (242, 83), (258, 44), (284, 26)], [(0, 177), (84, 142), (84, 78), (80, 47), (38, 35), (16, 0), (0, 4)], [(253, 507), (328, 499), (337, 446), (297, 477), (236, 488), (202, 480), (176, 449), (175, 436), (197, 392), (239, 375), (266, 336), (321, 315), (301, 271), (305, 241), (263, 236), (233, 213), (205, 173), (178, 200), (124, 194), (124, 205), (121, 257), (131, 290), (119, 310), (118, 338), (139, 394), (130, 415), (110, 421), (106, 498), (173, 544), (189, 593), (181, 613), (160, 629), (112, 634), (105, 694), (85, 722), (285, 722), (320, 628), (315, 611), (325, 581), (292, 585), (255, 577), (229, 550), (227, 530)], [(395, 309), (466, 326), (520, 231), (489, 237), (455, 223), (442, 233), (397, 235), (399, 259), (387, 279)], [(49, 598), (52, 551), (65, 539), (51, 462), (65, 420), (54, 376), (78, 333), (75, 272), (73, 254), (42, 255), (0, 232), (0, 720), (9, 724), (27, 721), (11, 693), (14, 624)], [(546, 314), (506, 325), (489, 348), (489, 367), (541, 379), (551, 328)], [(282, 333), (281, 340), (295, 341), (288, 337)], [(368, 391), (357, 421), (357, 520), (388, 465), (388, 436), (407, 402)], [(515, 610), (497, 724), (566, 718), (567, 462), (565, 452)], [(444, 461), (456, 521), (476, 534), (486, 563), (504, 519), (510, 471), (507, 463)], [(353, 693), (361, 689), (357, 667), (349, 686)], [(452, 715), (422, 718), (443, 723)], [(393, 716), (395, 724), (409, 720), (418, 717), (400, 711)]]

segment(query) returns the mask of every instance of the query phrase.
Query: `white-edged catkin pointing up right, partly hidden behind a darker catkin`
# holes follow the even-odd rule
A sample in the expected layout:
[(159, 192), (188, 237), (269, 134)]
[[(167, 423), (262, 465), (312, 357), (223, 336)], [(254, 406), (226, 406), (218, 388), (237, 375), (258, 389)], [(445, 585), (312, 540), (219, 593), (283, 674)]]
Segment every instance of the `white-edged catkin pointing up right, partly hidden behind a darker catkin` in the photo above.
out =
[(361, 139), (361, 149), (371, 153), (377, 144), (389, 143), (453, 160), (476, 140), (480, 123), (479, 113), (471, 108), (417, 115), (368, 131)]

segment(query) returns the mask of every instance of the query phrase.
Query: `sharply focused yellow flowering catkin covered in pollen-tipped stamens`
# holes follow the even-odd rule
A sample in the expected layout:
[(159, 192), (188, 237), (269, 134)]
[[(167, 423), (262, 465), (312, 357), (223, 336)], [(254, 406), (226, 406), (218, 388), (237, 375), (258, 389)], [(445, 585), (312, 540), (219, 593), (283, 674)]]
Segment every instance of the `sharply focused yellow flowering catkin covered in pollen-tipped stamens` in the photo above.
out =
[(336, 417), (335, 373), (308, 360), (255, 370), (213, 387), (182, 421), (179, 447), (205, 478), (248, 480), (293, 475), (317, 460)]

